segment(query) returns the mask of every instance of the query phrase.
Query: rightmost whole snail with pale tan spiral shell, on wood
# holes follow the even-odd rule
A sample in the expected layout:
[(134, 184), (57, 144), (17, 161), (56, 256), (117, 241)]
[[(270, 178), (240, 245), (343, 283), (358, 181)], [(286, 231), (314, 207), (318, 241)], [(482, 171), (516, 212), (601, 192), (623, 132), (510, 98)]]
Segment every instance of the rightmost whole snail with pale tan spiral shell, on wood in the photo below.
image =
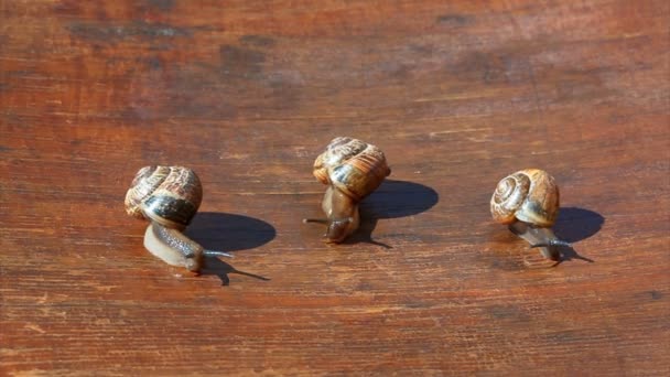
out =
[(559, 186), (543, 170), (526, 169), (504, 177), (490, 198), (494, 220), (506, 224), (547, 259), (559, 261), (558, 246), (571, 247), (551, 227), (559, 215)]

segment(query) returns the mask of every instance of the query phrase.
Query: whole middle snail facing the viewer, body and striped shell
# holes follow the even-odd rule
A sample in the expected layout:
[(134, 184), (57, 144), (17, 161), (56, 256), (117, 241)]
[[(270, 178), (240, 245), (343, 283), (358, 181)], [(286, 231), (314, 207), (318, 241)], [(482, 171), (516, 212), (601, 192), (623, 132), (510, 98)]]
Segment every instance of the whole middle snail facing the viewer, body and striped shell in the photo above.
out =
[(327, 225), (328, 243), (342, 243), (360, 223), (358, 203), (371, 194), (391, 173), (383, 152), (361, 140), (338, 137), (314, 161), (314, 176), (327, 185), (322, 208), (325, 219), (304, 223)]

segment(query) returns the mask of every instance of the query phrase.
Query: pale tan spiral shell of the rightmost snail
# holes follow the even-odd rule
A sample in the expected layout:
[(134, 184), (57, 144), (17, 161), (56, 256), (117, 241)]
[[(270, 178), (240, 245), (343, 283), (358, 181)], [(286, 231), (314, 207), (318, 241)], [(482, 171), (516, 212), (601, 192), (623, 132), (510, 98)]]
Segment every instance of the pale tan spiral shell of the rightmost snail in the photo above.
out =
[(516, 220), (550, 227), (559, 215), (559, 186), (543, 170), (526, 169), (504, 177), (490, 198), (490, 213), (500, 224)]

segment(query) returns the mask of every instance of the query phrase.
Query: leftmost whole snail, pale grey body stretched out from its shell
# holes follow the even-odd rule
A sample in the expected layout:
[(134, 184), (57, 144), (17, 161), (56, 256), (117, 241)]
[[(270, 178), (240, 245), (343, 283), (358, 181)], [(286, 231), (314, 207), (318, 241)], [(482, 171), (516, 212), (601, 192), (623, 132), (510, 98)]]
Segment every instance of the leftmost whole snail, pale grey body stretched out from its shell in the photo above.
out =
[(136, 174), (126, 193), (126, 212), (151, 222), (144, 247), (164, 262), (199, 272), (205, 257), (233, 257), (205, 250), (182, 231), (203, 200), (203, 186), (195, 172), (182, 166), (145, 166)]

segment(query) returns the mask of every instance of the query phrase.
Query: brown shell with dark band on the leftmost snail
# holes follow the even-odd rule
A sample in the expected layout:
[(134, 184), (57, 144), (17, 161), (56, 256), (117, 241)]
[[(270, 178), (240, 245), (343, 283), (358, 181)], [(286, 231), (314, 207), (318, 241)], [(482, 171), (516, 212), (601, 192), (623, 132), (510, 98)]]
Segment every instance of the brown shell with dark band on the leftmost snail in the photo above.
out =
[(195, 172), (182, 166), (145, 166), (126, 193), (126, 212), (182, 229), (201, 206), (203, 186)]

